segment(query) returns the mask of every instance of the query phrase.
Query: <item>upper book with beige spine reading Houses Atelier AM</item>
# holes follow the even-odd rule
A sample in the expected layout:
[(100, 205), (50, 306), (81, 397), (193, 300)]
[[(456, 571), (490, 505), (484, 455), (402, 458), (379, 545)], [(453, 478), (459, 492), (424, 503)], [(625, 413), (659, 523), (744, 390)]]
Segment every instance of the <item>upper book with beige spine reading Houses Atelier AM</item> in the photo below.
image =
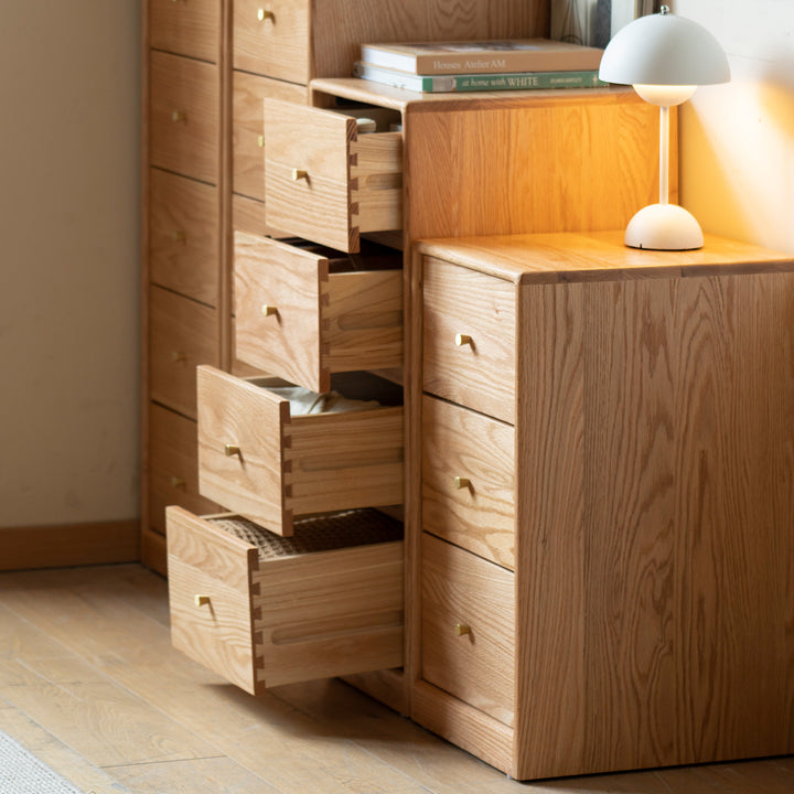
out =
[(363, 44), (361, 60), (418, 75), (596, 71), (602, 50), (551, 39)]

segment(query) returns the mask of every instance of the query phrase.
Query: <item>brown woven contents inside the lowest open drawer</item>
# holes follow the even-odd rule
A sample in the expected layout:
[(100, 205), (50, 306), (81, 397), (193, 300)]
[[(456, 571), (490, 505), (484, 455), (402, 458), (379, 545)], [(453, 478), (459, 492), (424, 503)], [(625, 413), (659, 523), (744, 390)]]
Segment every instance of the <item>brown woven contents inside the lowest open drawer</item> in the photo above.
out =
[(303, 518), (296, 522), (291, 537), (275, 535), (239, 516), (213, 518), (212, 523), (256, 546), (261, 560), (403, 539), (403, 524), (376, 509)]

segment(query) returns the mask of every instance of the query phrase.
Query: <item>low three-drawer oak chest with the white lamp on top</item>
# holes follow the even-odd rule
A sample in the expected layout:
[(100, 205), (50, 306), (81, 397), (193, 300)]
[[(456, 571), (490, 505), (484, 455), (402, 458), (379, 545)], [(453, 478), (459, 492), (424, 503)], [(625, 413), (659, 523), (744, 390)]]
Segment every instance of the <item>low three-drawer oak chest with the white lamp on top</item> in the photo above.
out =
[(418, 249), (414, 718), (517, 779), (791, 753), (794, 261)]

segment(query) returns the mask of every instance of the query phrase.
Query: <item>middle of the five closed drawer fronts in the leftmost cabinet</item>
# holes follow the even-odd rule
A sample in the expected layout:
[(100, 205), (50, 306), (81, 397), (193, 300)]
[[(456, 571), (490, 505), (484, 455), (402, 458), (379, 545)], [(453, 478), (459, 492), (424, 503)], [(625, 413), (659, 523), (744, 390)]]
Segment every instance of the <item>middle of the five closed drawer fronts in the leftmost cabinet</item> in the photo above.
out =
[(217, 307), (217, 187), (150, 170), (149, 279)]

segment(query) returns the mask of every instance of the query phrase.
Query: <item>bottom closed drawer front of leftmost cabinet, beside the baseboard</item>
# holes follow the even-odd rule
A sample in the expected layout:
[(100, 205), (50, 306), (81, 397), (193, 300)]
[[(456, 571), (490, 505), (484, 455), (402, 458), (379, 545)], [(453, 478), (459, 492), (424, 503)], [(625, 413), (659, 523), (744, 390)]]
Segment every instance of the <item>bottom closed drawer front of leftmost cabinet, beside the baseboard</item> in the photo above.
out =
[(218, 505), (198, 494), (198, 433), (187, 419), (149, 404), (149, 526), (165, 534), (165, 507), (213, 513)]

